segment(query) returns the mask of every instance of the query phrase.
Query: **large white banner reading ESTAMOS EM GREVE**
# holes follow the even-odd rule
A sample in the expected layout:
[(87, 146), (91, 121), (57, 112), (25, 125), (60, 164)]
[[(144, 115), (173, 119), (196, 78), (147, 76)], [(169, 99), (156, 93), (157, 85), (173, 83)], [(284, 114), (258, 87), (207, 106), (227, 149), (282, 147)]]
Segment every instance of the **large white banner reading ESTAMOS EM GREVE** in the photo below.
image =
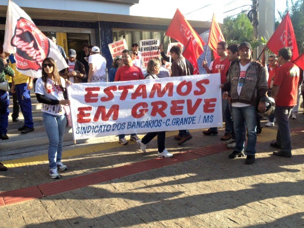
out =
[(222, 127), (220, 74), (68, 86), (74, 139)]

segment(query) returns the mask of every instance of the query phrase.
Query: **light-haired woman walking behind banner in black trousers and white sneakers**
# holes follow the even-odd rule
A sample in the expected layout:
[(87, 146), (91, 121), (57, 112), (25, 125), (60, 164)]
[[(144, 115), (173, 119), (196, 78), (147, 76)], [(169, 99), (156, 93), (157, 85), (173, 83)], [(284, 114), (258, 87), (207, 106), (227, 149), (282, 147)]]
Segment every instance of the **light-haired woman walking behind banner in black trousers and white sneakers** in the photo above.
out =
[[(158, 78), (161, 62), (158, 58), (153, 58), (148, 62), (147, 72), (148, 75), (145, 79)], [(143, 152), (146, 152), (146, 145), (157, 135), (157, 147), (159, 157), (172, 157), (173, 154), (165, 149), (166, 131), (149, 132), (142, 139), (136, 141)]]

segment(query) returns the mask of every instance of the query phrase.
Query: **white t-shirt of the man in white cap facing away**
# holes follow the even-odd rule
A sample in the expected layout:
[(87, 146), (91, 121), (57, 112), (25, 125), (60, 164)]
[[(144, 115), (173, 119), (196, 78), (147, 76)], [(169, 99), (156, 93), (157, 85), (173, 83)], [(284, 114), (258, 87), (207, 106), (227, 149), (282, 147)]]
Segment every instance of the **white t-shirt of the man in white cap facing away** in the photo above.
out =
[(101, 54), (92, 54), (89, 56), (89, 64), (94, 65), (93, 76), (91, 78), (92, 82), (106, 81), (105, 67), (106, 60)]

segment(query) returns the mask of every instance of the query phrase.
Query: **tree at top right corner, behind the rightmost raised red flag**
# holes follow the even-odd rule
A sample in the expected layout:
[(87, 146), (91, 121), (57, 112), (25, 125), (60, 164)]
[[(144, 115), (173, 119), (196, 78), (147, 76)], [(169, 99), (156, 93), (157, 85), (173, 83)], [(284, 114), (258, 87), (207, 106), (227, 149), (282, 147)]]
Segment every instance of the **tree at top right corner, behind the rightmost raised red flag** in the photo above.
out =
[[(298, 50), (300, 53), (304, 52), (304, 0), (291, 0), (286, 1), (286, 10), (279, 12), (280, 19), (283, 19), (286, 13), (289, 11), (290, 19), (293, 29), (296, 34)], [(276, 28), (279, 26), (279, 22), (276, 21)]]

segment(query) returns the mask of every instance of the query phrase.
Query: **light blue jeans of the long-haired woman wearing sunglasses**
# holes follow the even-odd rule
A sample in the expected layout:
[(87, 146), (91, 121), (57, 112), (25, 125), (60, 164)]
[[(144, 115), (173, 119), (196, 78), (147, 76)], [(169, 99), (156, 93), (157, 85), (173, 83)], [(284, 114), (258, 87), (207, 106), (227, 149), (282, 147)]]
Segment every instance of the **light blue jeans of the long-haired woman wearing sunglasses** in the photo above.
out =
[(50, 169), (53, 169), (56, 167), (56, 162), (61, 161), (62, 141), (67, 117), (66, 115), (55, 116), (43, 112), (42, 120), (49, 138), (49, 165)]

